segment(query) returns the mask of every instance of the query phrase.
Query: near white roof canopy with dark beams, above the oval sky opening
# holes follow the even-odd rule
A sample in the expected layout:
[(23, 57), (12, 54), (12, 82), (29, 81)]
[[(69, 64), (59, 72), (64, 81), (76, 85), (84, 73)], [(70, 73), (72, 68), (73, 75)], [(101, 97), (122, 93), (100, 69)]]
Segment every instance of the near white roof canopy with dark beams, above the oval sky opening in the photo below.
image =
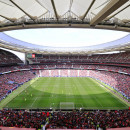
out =
[(130, 32), (130, 0), (0, 0), (0, 31), (104, 28)]

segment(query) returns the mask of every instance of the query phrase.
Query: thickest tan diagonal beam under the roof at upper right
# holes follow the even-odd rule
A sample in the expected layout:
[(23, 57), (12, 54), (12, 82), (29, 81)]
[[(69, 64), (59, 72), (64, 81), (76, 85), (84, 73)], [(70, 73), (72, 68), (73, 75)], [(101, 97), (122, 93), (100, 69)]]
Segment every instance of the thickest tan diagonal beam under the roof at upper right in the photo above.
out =
[(95, 26), (129, 0), (111, 0), (90, 22)]

